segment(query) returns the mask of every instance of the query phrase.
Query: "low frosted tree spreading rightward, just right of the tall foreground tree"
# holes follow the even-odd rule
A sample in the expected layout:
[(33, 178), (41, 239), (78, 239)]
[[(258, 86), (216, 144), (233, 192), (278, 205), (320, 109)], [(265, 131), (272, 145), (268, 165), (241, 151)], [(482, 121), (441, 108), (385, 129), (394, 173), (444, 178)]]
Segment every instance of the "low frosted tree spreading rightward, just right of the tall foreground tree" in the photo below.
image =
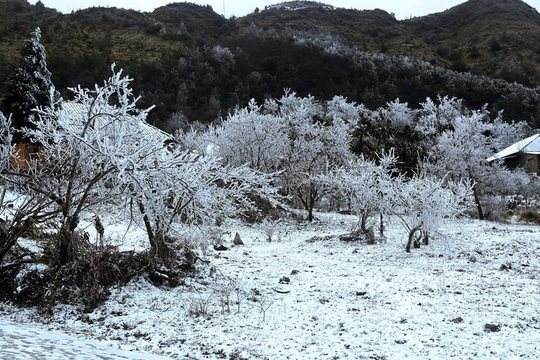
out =
[(119, 174), (141, 214), (152, 254), (171, 258), (168, 244), (179, 224), (215, 223), (254, 210), (250, 195), (273, 197), (270, 177), (248, 167), (224, 166), (221, 159), (180, 148), (156, 152)]

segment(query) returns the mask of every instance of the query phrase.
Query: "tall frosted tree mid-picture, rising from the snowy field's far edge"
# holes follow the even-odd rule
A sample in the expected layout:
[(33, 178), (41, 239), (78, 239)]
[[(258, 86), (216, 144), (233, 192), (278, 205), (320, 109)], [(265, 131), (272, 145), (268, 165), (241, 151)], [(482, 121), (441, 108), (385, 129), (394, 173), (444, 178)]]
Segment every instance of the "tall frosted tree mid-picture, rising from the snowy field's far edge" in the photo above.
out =
[(282, 120), (287, 134), (279, 185), (301, 202), (312, 221), (315, 204), (329, 190), (320, 182), (320, 175), (352, 157), (351, 132), (356, 119), (330, 118), (324, 105), (312, 96), (301, 98), (294, 92), (286, 92), (277, 101), (266, 101), (264, 108)]

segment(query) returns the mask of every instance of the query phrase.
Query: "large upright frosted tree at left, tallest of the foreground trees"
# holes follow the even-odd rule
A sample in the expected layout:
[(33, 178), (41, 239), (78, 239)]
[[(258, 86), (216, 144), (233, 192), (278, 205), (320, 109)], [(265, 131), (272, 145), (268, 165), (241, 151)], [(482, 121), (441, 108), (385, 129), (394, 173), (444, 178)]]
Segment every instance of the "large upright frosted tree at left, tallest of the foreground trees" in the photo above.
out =
[(120, 196), (124, 189), (118, 174), (130, 171), (163, 146), (159, 133), (147, 133), (144, 124), (149, 109), (137, 108), (138, 98), (129, 88), (131, 79), (112, 69), (113, 75), (101, 87), (70, 88), (72, 103), (61, 107), (51, 96), (50, 105), (37, 110), (33, 128), (24, 129), (32, 142), (41, 144), (39, 159), (29, 166), (35, 176), (24, 181), (32, 185), (31, 194), (54, 199), (61, 214), (61, 265), (71, 259), (81, 213)]

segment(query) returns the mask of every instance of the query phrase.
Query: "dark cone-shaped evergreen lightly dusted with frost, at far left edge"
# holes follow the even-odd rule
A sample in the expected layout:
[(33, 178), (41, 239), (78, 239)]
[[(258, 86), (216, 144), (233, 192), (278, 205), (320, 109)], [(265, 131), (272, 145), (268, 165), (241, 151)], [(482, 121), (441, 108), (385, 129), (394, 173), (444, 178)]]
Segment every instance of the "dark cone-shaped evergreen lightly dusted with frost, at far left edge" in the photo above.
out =
[(40, 105), (50, 105), (50, 91), (54, 91), (45, 48), (40, 41), (41, 30), (38, 27), (24, 42), (21, 62), (8, 81), (7, 94), (2, 102), (3, 112), (11, 114), (16, 129), (31, 127), (32, 110)]

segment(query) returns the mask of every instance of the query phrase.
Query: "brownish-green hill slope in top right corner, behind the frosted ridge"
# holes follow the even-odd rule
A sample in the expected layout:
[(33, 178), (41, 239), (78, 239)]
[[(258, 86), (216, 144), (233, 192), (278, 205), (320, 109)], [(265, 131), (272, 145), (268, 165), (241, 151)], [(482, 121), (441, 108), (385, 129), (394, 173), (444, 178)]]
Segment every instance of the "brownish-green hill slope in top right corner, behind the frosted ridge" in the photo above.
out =
[(540, 84), (540, 14), (521, 0), (469, 0), (403, 25), (459, 70)]

